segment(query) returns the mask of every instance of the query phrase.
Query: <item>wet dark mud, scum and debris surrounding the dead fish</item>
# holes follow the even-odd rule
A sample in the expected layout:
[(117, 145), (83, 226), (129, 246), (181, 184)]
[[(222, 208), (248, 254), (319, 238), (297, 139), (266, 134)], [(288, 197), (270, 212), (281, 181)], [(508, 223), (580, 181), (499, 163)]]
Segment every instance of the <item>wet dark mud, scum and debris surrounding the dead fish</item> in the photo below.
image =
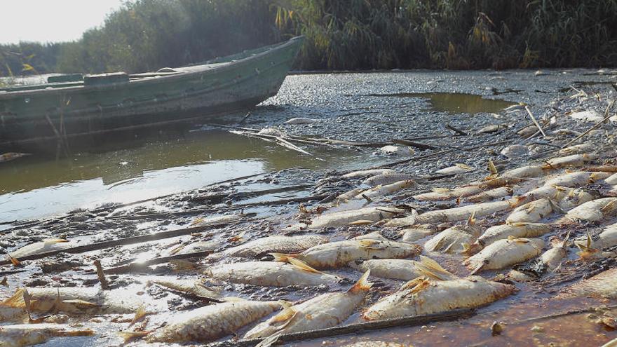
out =
[[(341, 146), (327, 144), (325, 151), (341, 147), (355, 151), (364, 158), (353, 167), (335, 170), (309, 170), (290, 168), (265, 172), (255, 177), (238, 179), (233, 182), (212, 184), (201, 189), (173, 193), (164, 198), (151, 199), (143, 203), (118, 206), (102, 205), (97, 209), (75, 210), (67, 215), (36, 221), (20, 221), (6, 224), (0, 231), (2, 240), (0, 253), (13, 252), (18, 247), (45, 238), (65, 238), (75, 245), (100, 243), (150, 235), (173, 229), (185, 229), (198, 217), (245, 214), (242, 219), (216, 224), (201, 231), (173, 238), (153, 240), (133, 245), (115, 245), (100, 250), (90, 250), (79, 254), (60, 253), (44, 259), (22, 261), (22, 266), (3, 266), (0, 277), (6, 275), (8, 287), (0, 287), (1, 297), (9, 297), (17, 287), (100, 287), (94, 271), (93, 261), (100, 259), (103, 268), (118, 268), (127, 264), (170, 255), (170, 250), (178, 245), (196, 241), (217, 241), (216, 250), (224, 250), (246, 241), (271, 235), (318, 234), (326, 236), (330, 242), (362, 236), (374, 231), (381, 232), (384, 238), (400, 240), (399, 231), (403, 226), (386, 227), (379, 223), (351, 226), (327, 227), (313, 231), (287, 231), (285, 228), (298, 221), (311, 220), (318, 215), (337, 210), (353, 210), (369, 206), (398, 206), (407, 212), (415, 210), (420, 215), (432, 210), (458, 207), (456, 198), (423, 201), (415, 198), (419, 193), (431, 189), (452, 189), (482, 179), (491, 172), (487, 163), (491, 161), (498, 172), (520, 168), (530, 163), (543, 165), (549, 158), (564, 156), (557, 151), (574, 140), (578, 134), (589, 130), (596, 121), (574, 119), (570, 114), (577, 111), (593, 110), (603, 118), (604, 111), (611, 100), (616, 99), (617, 88), (613, 74), (597, 74), (591, 70), (545, 70), (542, 74), (531, 71), (506, 72), (413, 72), (395, 74), (369, 74), (376, 79), (364, 80), (363, 74), (344, 75), (303, 75), (290, 76), (283, 85), (281, 93), (252, 112), (241, 126), (245, 128), (276, 128), (285, 136), (303, 138), (323, 137), (351, 142), (392, 142), (393, 140), (412, 141), (413, 154), (407, 146), (395, 143), (398, 154), (385, 154), (381, 145)], [(573, 76), (574, 75), (574, 76)], [(300, 78), (301, 77), (301, 78)], [(388, 79), (388, 83), (379, 83)], [(335, 86), (335, 87), (333, 87)], [(385, 87), (384, 87), (385, 86)], [(557, 89), (557, 90), (555, 90)], [(409, 93), (463, 93), (482, 95), (485, 99), (507, 100), (511, 105), (523, 102), (537, 119), (545, 136), (529, 117), (524, 107), (511, 111), (478, 112), (457, 114), (452, 111), (435, 109), (438, 99), (409, 96)], [(303, 95), (312, 95), (310, 99)], [(352, 100), (346, 102), (345, 100)], [(499, 109), (505, 107), (500, 104)], [(609, 115), (617, 106), (611, 105)], [(420, 110), (420, 111), (419, 111)], [(293, 117), (316, 118), (310, 124), (282, 125)], [(595, 154), (587, 166), (616, 165), (616, 123), (603, 123), (574, 144), (590, 144)], [(466, 135), (449, 130), (447, 125), (461, 130)], [(209, 125), (204, 125), (208, 128)], [(237, 125), (232, 125), (237, 126)], [(568, 131), (566, 131), (568, 130)], [(446, 136), (447, 138), (444, 138)], [(433, 137), (433, 138), (426, 138)], [(259, 140), (256, 140), (259, 141)], [(308, 152), (316, 151), (317, 145), (294, 142)], [(425, 147), (418, 146), (418, 144)], [(426, 146), (430, 149), (426, 149)], [(517, 147), (513, 147), (517, 146)], [(513, 153), (503, 152), (512, 147)], [(278, 148), (278, 147), (277, 147)], [(522, 154), (514, 151), (522, 151)], [(282, 151), (289, 149), (281, 148)], [(505, 154), (508, 154), (506, 156)], [(585, 154), (587, 154), (585, 152)], [(318, 156), (318, 155), (316, 155)], [(299, 158), (307, 158), (299, 155)], [(421, 158), (421, 159), (418, 159)], [(312, 160), (312, 159), (311, 159)], [(395, 164), (400, 162), (398, 164)], [(456, 175), (441, 175), (436, 171), (463, 164), (466, 172)], [(338, 206), (332, 200), (362, 185), (365, 177), (343, 179), (342, 176), (355, 169), (384, 167), (404, 175), (414, 177), (416, 185), (400, 191), (379, 196), (367, 201), (356, 199)], [(285, 188), (287, 187), (287, 188)], [(614, 196), (615, 189), (602, 182), (585, 184), (585, 189), (597, 193), (597, 198)], [(517, 193), (518, 191), (515, 191)], [(524, 193), (524, 189), (520, 190)], [(500, 200), (503, 198), (496, 198)], [(301, 204), (301, 205), (300, 205)], [(469, 205), (463, 201), (463, 205)], [(256, 215), (252, 215), (255, 213)], [(496, 212), (486, 217), (477, 217), (477, 226), (487, 229), (501, 224), (509, 211)], [(555, 213), (542, 219), (555, 222), (562, 217)], [(615, 217), (606, 217), (599, 222), (578, 223), (576, 226), (555, 228), (546, 233), (544, 250), (552, 238), (564, 238), (567, 231), (572, 237), (598, 233), (610, 224), (617, 222)], [(464, 224), (464, 221), (435, 222), (439, 230)], [(428, 238), (419, 240), (423, 244)], [(79, 240), (79, 241), (78, 241)], [(605, 251), (611, 251), (607, 249)], [(473, 318), (457, 322), (435, 322), (421, 327), (400, 327), (377, 330), (357, 336), (332, 337), (325, 341), (294, 342), (290, 346), (317, 346), (328, 344), (344, 346), (356, 341), (391, 341), (393, 343), (413, 343), (414, 346), (428, 345), (473, 345), (481, 346), (509, 343), (512, 346), (525, 346), (530, 343), (554, 346), (574, 346), (580, 341), (602, 344), (617, 337), (610, 327), (595, 322), (590, 314), (611, 315), (602, 309), (592, 313), (573, 313), (561, 318), (543, 322), (518, 322), (524, 318), (534, 318), (549, 313), (613, 306), (614, 300), (577, 298), (562, 301), (552, 300), (562, 290), (582, 278), (588, 278), (606, 269), (614, 268), (611, 257), (581, 261), (577, 249), (569, 247), (567, 260), (559, 273), (539, 280), (516, 282), (499, 278), (499, 274), (509, 271), (488, 271), (481, 275), (487, 279), (498, 279), (513, 283), (517, 293), (487, 307), (480, 308)], [(463, 257), (450, 254), (430, 254), (448, 271), (465, 276), (469, 270), (461, 265)], [(265, 260), (268, 258), (266, 257)], [(233, 257), (221, 259), (216, 264), (230, 264), (238, 261)], [(141, 292), (143, 297), (158, 300), (161, 304), (161, 317), (151, 321), (143, 320), (137, 329), (148, 329), (157, 320), (176, 311), (203, 306), (203, 300), (168, 292), (161, 287), (150, 285), (154, 278), (199, 278), (203, 266), (212, 266), (203, 257), (179, 259), (156, 264), (149, 268), (130, 269), (125, 273), (108, 275), (109, 285), (114, 290)], [(11, 273), (11, 271), (22, 271)], [(254, 300), (299, 301), (316, 294), (346, 290), (361, 273), (351, 268), (337, 268), (329, 271), (348, 278), (337, 285), (316, 287), (260, 287), (245, 284), (222, 283), (206, 279), (207, 285), (220, 287), (224, 296), (238, 296)], [(563, 281), (562, 280), (567, 280)], [(374, 287), (367, 295), (361, 308), (366, 308), (388, 293), (395, 292), (403, 283), (398, 280), (372, 278)], [(360, 311), (360, 310), (358, 310)], [(355, 311), (345, 324), (361, 321)], [(118, 344), (121, 339), (116, 332), (127, 329), (126, 320), (115, 319), (109, 315), (96, 318), (69, 318), (70, 323), (84, 323), (88, 327), (100, 329), (102, 334), (87, 338), (88, 343), (105, 345)], [(128, 317), (128, 318), (127, 318)], [(490, 326), (494, 321), (504, 322), (501, 336), (491, 336)], [(540, 328), (535, 328), (540, 326)], [(532, 330), (534, 329), (534, 330)], [(575, 331), (576, 330), (576, 331)], [(245, 329), (240, 330), (245, 332)], [(241, 335), (241, 334), (240, 334)], [(63, 339), (51, 339), (49, 346), (57, 346)], [(79, 340), (86, 341), (86, 340)], [(136, 342), (139, 343), (139, 342)]]

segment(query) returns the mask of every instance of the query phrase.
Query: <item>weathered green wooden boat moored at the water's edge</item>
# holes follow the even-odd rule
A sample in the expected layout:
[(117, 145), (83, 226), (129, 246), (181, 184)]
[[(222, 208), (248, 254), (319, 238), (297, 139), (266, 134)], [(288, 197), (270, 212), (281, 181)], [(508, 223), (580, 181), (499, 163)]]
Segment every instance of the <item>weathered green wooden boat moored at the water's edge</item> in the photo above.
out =
[(69, 74), (0, 88), (0, 153), (218, 116), (276, 95), (303, 39), (142, 74)]

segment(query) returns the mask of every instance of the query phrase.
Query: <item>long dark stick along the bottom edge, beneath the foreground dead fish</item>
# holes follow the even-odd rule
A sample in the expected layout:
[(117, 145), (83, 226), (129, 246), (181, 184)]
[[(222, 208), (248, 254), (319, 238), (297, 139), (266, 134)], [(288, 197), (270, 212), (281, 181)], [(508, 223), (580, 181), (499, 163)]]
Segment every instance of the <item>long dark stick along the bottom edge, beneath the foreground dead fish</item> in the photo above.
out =
[[(309, 339), (323, 339), (325, 337), (340, 336), (344, 334), (355, 334), (367, 330), (388, 329), (391, 327), (414, 327), (416, 325), (426, 325), (430, 322), (443, 322), (449, 320), (459, 320), (469, 318), (475, 314), (473, 309), (459, 309), (444, 313), (433, 313), (430, 315), (416, 315), (413, 317), (392, 318), (386, 320), (373, 320), (370, 322), (360, 322), (339, 327), (309, 330), (308, 332), (295, 332), (278, 336), (276, 343), (287, 343), (291, 341), (304, 341)], [(253, 347), (264, 339), (222, 341), (210, 343), (211, 347)]]

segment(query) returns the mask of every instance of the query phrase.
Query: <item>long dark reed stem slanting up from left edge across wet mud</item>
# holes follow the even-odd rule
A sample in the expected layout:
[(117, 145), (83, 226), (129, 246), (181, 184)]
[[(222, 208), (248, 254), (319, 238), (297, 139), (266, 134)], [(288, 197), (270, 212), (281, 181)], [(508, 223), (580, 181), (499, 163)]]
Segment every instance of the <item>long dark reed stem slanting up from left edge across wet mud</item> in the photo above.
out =
[[(46, 257), (52, 257), (56, 254), (60, 253), (83, 253), (90, 252), (93, 250), (104, 250), (105, 248), (111, 248), (116, 246), (123, 245), (133, 245), (135, 243), (144, 243), (149, 241), (163, 240), (165, 238), (175, 238), (176, 236), (190, 235), (191, 233), (201, 233), (203, 231), (208, 231), (210, 229), (221, 228), (222, 226), (228, 226), (229, 223), (221, 223), (221, 224), (212, 224), (206, 226), (194, 226), (192, 228), (183, 228), (183, 229), (175, 229), (170, 231), (163, 231), (161, 233), (153, 233), (149, 235), (142, 236), (133, 236), (131, 238), (121, 238), (118, 240), (111, 241), (103, 241), (99, 243), (90, 243), (90, 245), (76, 246), (72, 248), (66, 248), (64, 250), (53, 250), (50, 252), (44, 252), (39, 254), (27, 255), (25, 257), (21, 257), (19, 260), (36, 260), (43, 259)], [(0, 266), (11, 264), (9, 260), (0, 261)]]

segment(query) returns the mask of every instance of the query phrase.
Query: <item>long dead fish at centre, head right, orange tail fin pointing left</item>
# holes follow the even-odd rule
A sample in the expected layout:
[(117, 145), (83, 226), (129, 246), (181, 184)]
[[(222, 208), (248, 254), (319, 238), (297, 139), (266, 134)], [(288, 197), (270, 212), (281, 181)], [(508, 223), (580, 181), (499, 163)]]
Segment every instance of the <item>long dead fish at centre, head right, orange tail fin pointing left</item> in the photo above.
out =
[(272, 254), (274, 259), (300, 259), (315, 268), (339, 268), (356, 259), (408, 258), (420, 254), (422, 247), (412, 243), (384, 240), (344, 240), (311, 247), (298, 254)]

